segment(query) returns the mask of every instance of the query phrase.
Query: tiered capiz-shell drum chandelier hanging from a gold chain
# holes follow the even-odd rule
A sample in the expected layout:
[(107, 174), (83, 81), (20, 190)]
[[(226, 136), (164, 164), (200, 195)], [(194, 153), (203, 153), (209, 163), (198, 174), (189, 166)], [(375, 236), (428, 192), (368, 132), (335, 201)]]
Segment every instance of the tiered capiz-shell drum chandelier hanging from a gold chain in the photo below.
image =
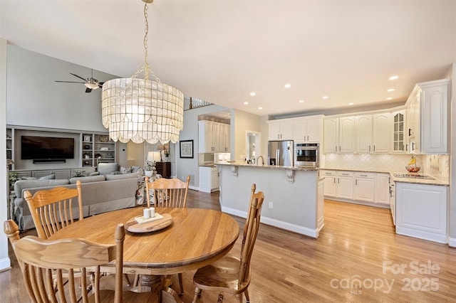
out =
[[(101, 92), (103, 126), (114, 141), (176, 143), (182, 130), (184, 95), (160, 81), (147, 64), (147, 4), (145, 2), (145, 63), (132, 78), (106, 81)], [(136, 78), (144, 72), (144, 79)], [(149, 80), (149, 73), (155, 80)]]

